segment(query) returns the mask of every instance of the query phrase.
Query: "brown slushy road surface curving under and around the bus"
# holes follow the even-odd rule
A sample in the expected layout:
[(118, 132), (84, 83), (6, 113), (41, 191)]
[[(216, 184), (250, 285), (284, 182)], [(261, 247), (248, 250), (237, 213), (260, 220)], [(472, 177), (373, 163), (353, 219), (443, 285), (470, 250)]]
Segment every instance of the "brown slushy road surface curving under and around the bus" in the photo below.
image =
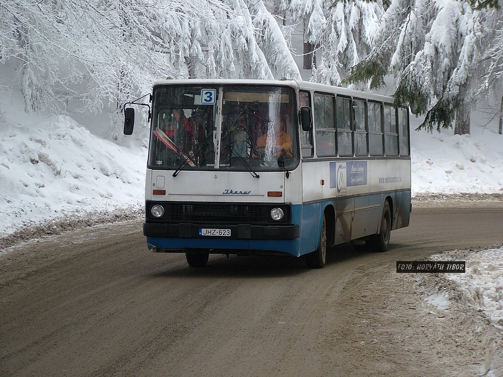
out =
[(422, 203), (388, 252), (344, 245), (315, 270), (222, 255), (190, 268), (148, 252), (141, 220), (23, 243), (0, 251), (0, 375), (500, 375), (484, 318), (435, 311), (395, 262), (502, 242), (502, 224), (501, 203)]

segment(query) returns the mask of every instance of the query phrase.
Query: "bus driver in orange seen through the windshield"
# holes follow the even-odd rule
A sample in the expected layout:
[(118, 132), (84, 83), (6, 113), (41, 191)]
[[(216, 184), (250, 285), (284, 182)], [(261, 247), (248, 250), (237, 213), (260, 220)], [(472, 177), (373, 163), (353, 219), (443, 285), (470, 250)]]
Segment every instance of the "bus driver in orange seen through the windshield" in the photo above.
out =
[(257, 140), (257, 153), (259, 157), (271, 153), (272, 156), (292, 157), (292, 139), (286, 133), (286, 120), (271, 124), (271, 128)]

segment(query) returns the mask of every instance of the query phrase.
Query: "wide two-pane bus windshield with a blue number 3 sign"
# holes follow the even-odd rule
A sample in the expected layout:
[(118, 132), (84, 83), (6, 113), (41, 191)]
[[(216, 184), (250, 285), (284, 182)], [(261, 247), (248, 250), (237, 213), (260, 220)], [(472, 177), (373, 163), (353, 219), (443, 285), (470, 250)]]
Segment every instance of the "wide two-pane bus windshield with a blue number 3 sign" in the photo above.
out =
[(174, 170), (292, 169), (299, 162), (295, 99), (295, 91), (286, 86), (157, 85), (148, 165)]

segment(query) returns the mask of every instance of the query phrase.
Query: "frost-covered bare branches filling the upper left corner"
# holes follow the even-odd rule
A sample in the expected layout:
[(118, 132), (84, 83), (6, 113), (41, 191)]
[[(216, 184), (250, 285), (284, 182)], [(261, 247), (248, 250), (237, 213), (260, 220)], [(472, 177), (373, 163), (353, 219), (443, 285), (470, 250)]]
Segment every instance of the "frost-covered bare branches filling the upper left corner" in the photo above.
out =
[(26, 111), (63, 112), (68, 101), (100, 111), (105, 101), (121, 102), (173, 70), (151, 42), (154, 5), (2, 2), (1, 63), (17, 69)]

